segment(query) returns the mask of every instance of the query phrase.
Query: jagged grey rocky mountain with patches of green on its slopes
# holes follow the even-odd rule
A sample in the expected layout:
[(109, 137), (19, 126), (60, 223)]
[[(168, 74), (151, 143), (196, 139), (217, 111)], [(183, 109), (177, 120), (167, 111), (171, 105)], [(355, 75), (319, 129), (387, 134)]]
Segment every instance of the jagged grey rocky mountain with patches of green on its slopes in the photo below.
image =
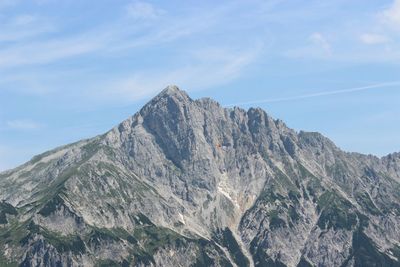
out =
[(0, 174), (0, 266), (400, 266), (400, 154), (169, 86)]

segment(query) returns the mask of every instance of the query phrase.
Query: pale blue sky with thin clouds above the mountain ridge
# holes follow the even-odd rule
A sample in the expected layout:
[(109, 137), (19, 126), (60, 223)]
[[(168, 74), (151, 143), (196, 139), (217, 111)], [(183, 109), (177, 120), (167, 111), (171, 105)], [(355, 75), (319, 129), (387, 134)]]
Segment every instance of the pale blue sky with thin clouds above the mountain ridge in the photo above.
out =
[(400, 0), (0, 0), (0, 171), (169, 84), (345, 151), (400, 151)]

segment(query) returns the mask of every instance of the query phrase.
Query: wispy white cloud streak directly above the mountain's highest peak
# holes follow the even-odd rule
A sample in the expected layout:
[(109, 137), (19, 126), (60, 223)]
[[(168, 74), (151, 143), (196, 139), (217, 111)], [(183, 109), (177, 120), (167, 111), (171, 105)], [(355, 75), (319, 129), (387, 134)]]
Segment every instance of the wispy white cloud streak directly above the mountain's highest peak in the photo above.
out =
[[(192, 63), (172, 70), (135, 72), (87, 91), (97, 99), (136, 101), (160, 91), (169, 84), (186, 90), (200, 90), (228, 83), (243, 75), (263, 51), (262, 43), (251, 48), (205, 48), (192, 54)], [(155, 78), (156, 77), (156, 78)]]

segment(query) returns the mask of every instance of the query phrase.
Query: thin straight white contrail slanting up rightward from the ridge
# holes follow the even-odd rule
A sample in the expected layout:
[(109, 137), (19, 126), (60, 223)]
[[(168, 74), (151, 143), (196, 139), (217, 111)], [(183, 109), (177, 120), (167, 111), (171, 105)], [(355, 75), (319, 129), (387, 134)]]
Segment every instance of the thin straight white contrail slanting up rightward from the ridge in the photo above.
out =
[(290, 96), (290, 97), (260, 99), (260, 100), (254, 100), (254, 101), (248, 101), (248, 102), (239, 102), (239, 103), (229, 104), (229, 105), (225, 105), (225, 106), (232, 107), (232, 106), (238, 106), (238, 105), (285, 102), (285, 101), (313, 98), (313, 97), (319, 97), (319, 96), (338, 95), (338, 94), (366, 91), (366, 90), (374, 89), (374, 88), (393, 87), (393, 86), (399, 86), (399, 85), (400, 85), (400, 81), (378, 83), (378, 84), (372, 84), (372, 85), (367, 85), (367, 86), (362, 86), (362, 87), (354, 87), (354, 88), (327, 91), (327, 92), (311, 93), (311, 94), (297, 95), (297, 96)]

